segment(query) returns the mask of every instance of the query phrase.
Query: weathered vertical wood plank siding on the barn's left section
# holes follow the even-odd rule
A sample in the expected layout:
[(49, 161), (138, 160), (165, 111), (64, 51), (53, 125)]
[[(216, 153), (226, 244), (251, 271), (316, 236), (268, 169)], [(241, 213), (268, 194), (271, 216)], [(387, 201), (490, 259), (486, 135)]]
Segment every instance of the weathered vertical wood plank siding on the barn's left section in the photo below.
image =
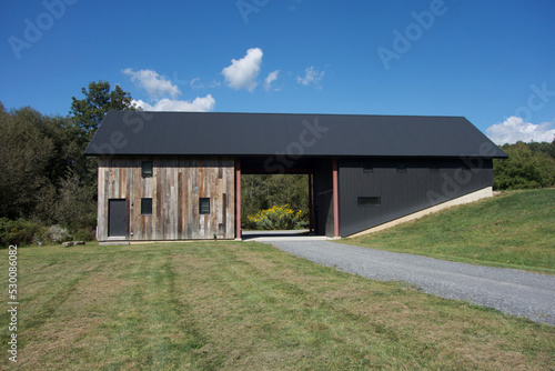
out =
[[(152, 177), (142, 178), (142, 161), (152, 161)], [(108, 240), (108, 202), (127, 200), (130, 241), (234, 238), (234, 159), (99, 159), (98, 239)], [(141, 199), (152, 199), (152, 215), (141, 215)], [(200, 198), (210, 198), (210, 213), (200, 214)]]

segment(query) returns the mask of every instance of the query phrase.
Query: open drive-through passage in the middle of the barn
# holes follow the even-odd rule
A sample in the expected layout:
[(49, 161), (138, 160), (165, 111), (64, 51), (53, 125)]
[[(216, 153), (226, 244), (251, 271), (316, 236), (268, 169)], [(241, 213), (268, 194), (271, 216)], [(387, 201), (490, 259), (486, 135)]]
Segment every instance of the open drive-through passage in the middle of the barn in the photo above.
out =
[(241, 229), (236, 235), (242, 239), (333, 237), (331, 158), (283, 163), (272, 158), (241, 158), (235, 164), (238, 180)]

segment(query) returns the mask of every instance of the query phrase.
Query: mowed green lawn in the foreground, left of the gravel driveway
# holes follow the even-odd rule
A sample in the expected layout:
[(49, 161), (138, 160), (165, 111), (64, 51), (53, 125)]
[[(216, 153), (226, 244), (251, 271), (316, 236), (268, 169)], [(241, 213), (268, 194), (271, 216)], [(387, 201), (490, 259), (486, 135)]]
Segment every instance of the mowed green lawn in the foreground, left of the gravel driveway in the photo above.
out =
[[(511, 200), (511, 198), (508, 198)], [(266, 244), (22, 248), (22, 370), (548, 370), (555, 328)], [(8, 271), (8, 251), (0, 251)], [(2, 274), (3, 308), (8, 307)]]

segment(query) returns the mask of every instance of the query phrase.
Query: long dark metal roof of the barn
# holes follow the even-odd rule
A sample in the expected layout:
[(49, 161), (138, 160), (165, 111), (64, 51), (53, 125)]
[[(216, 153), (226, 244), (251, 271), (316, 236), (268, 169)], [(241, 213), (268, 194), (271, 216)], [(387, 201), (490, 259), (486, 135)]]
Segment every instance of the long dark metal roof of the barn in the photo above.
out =
[(108, 112), (85, 154), (507, 157), (463, 117)]

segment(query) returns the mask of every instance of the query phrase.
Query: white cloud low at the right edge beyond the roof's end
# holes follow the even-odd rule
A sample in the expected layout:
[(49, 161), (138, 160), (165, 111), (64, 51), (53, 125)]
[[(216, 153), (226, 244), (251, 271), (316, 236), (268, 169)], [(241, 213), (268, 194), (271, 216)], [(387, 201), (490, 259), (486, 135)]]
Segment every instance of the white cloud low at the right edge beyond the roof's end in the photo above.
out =
[[(554, 120), (555, 122), (555, 120)], [(554, 122), (543, 122), (533, 124), (524, 122), (522, 118), (509, 117), (504, 122), (493, 124), (486, 129), (486, 134), (496, 144), (523, 142), (552, 142), (555, 137), (555, 129), (549, 128)]]

